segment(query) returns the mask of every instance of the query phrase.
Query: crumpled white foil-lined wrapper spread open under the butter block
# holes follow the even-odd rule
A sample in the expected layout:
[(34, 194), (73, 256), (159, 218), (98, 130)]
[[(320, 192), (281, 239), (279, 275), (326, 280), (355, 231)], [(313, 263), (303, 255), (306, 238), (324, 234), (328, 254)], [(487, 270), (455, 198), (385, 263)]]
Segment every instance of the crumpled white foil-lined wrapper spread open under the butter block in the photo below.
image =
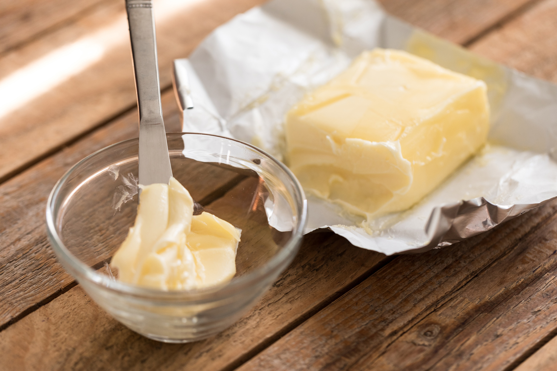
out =
[[(174, 62), (183, 131), (237, 138), (282, 158), (283, 121), (361, 51), (406, 50), (487, 83), (490, 142), (411, 210), (363, 222), (308, 196), (306, 232), (329, 228), (387, 255), (461, 241), (557, 196), (557, 86), (413, 28), (371, 0), (274, 0)], [(193, 101), (193, 110), (185, 109)], [(275, 216), (277, 217), (277, 216)]]

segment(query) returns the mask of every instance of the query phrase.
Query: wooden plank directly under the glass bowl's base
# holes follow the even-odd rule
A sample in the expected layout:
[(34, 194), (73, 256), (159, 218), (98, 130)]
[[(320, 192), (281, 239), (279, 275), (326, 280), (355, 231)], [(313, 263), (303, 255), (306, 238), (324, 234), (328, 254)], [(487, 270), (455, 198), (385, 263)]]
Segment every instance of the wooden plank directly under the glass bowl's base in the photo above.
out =
[[(231, 200), (249, 203), (253, 187), (257, 182), (247, 179), (227, 194), (227, 200), (208, 208), (238, 222), (238, 216), (235, 220), (227, 214), (237, 205)], [(256, 225), (242, 227), (242, 239), (252, 234), (252, 241), (261, 240), (260, 233), (253, 234)], [(240, 254), (246, 244), (250, 241), (238, 247), (238, 260), (244, 260)], [(215, 337), (183, 345), (162, 344), (131, 332), (92, 303), (78, 285), (0, 332), (2, 363), (15, 369), (232, 369), (338, 298), (383, 259), (334, 234), (306, 236), (291, 266), (242, 319)]]

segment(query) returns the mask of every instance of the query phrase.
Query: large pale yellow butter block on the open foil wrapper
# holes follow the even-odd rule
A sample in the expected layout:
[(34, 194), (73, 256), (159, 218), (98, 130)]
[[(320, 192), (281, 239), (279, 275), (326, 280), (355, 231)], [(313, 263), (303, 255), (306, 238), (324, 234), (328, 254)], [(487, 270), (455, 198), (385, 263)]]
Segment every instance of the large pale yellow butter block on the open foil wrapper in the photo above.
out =
[(408, 209), (485, 144), (486, 85), (375, 49), (303, 98), (285, 130), (304, 189), (369, 219)]

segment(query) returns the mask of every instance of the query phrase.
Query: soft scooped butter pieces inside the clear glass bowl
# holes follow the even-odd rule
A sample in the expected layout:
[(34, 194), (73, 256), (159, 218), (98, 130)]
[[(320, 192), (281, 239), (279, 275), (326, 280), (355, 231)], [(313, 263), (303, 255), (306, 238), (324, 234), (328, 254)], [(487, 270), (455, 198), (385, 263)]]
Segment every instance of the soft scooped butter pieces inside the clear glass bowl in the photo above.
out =
[(240, 230), (208, 212), (193, 215), (192, 197), (173, 177), (141, 186), (140, 200), (135, 224), (110, 263), (119, 280), (190, 290), (232, 279)]

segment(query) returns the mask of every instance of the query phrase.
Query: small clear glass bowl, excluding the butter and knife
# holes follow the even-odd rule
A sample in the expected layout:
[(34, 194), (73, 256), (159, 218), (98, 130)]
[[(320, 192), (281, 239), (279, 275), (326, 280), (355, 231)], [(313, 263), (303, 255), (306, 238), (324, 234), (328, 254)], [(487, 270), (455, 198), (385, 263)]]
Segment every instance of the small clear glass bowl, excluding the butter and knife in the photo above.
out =
[(168, 133), (167, 140), (173, 175), (198, 202), (196, 212), (211, 212), (242, 229), (230, 283), (160, 291), (112, 276), (111, 256), (136, 215), (138, 138), (72, 167), (50, 194), (46, 222), (58, 260), (97, 304), (148, 338), (185, 343), (234, 323), (290, 264), (304, 230), (306, 201), (290, 170), (256, 147), (198, 133)]

